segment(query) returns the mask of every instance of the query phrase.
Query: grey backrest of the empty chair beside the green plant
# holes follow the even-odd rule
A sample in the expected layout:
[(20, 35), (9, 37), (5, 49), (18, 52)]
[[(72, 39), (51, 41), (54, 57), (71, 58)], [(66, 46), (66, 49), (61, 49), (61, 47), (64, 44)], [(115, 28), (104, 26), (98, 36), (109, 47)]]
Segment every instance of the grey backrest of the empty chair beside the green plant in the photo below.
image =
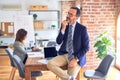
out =
[(105, 58), (101, 61), (96, 71), (100, 71), (104, 75), (107, 75), (113, 60), (114, 60), (114, 57), (112, 55), (110, 54), (106, 55)]

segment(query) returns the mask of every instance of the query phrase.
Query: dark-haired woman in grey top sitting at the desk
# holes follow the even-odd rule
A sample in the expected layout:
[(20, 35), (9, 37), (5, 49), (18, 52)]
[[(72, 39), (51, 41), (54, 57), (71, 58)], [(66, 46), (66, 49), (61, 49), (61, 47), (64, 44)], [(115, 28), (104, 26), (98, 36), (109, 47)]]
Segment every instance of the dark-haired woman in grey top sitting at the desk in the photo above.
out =
[[(19, 29), (16, 33), (16, 39), (14, 42), (14, 54), (18, 55), (23, 63), (25, 64), (27, 60), (27, 51), (25, 50), (24, 40), (27, 38), (27, 31), (24, 29)], [(32, 47), (33, 50), (37, 48)]]

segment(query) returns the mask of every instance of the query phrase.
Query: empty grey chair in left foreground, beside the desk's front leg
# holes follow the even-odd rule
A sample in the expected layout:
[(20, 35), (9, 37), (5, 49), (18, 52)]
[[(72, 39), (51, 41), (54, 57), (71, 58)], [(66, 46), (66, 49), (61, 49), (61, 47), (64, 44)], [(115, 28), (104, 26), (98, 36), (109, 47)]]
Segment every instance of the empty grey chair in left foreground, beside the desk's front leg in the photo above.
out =
[[(25, 78), (25, 65), (23, 64), (22, 60), (17, 56), (13, 56), (13, 61), (16, 64), (18, 71), (19, 71), (19, 76), (23, 79)], [(41, 71), (33, 71), (31, 72), (31, 78), (35, 80), (36, 77), (42, 76)]]

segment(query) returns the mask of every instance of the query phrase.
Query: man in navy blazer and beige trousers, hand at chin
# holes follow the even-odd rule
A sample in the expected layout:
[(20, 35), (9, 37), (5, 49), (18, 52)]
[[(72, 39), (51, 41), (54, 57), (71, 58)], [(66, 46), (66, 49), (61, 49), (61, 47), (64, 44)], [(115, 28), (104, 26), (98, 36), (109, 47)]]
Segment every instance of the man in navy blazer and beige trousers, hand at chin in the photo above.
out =
[[(86, 52), (89, 50), (89, 37), (86, 27), (77, 22), (79, 16), (80, 10), (77, 7), (71, 7), (66, 20), (62, 22), (56, 39), (56, 42), (61, 44), (58, 51), (59, 55), (47, 64), (48, 69), (62, 80), (75, 80), (80, 68), (86, 63)], [(66, 74), (60, 66), (67, 64), (68, 70)]]

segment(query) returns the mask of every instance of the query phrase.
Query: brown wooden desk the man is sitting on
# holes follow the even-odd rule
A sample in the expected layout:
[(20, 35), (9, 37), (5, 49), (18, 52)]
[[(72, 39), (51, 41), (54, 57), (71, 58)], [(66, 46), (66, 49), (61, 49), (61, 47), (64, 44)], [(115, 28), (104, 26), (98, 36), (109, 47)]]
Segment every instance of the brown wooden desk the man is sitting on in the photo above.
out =
[[(25, 64), (25, 80), (31, 80), (31, 71), (48, 71), (46, 64), (38, 62), (40, 59), (42, 57), (28, 57)], [(61, 68), (66, 70), (67, 66), (62, 66)], [(79, 80), (79, 76), (77, 76), (77, 80)]]

